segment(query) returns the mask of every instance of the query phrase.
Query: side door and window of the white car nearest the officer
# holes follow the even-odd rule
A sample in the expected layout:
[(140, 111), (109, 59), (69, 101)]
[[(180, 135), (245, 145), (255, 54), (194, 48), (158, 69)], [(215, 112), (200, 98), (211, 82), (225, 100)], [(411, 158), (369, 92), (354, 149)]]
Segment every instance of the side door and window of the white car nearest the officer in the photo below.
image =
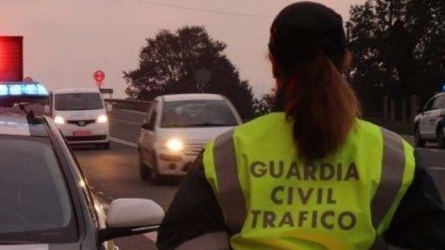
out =
[(153, 166), (154, 163), (154, 143), (155, 143), (155, 126), (158, 117), (158, 104), (154, 103), (147, 119), (141, 127), (141, 143), (140, 154), (142, 161), (148, 166)]

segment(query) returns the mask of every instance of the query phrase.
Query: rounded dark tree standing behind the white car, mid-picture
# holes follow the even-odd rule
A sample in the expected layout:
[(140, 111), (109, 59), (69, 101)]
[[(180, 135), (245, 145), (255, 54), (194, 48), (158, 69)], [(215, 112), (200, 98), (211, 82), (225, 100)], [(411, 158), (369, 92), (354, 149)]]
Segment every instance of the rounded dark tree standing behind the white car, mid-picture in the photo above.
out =
[(224, 54), (226, 45), (203, 27), (160, 31), (146, 40), (139, 67), (124, 72), (132, 99), (152, 100), (163, 94), (216, 93), (226, 96), (243, 119), (254, 116), (252, 88)]

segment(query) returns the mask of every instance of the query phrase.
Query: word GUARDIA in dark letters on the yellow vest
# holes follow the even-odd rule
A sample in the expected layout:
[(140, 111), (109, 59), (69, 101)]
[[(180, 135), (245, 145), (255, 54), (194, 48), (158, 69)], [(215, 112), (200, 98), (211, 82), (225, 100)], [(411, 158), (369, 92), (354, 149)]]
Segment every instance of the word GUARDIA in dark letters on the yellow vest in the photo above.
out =
[(250, 173), (256, 178), (270, 176), (272, 178), (297, 179), (305, 181), (351, 181), (359, 180), (358, 171), (354, 162), (347, 167), (342, 163), (332, 165), (321, 163), (318, 166), (304, 165), (299, 167), (296, 162), (286, 166), (284, 161), (254, 162), (250, 165)]

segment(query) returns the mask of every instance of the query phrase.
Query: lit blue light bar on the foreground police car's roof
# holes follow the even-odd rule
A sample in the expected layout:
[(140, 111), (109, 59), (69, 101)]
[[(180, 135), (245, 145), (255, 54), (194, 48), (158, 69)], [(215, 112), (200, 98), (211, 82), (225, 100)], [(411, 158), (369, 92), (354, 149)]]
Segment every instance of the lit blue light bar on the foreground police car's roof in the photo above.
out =
[(10, 97), (44, 97), (48, 91), (41, 83), (0, 83), (1, 96)]

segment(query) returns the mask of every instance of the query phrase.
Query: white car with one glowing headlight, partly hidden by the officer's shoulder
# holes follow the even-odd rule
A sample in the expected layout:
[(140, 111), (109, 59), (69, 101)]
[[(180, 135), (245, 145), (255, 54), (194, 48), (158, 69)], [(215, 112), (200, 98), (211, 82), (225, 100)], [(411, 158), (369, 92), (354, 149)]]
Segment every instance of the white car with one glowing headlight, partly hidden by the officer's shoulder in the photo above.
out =
[(156, 183), (164, 175), (184, 175), (209, 140), (240, 124), (238, 112), (221, 95), (156, 98), (138, 140), (140, 177)]

